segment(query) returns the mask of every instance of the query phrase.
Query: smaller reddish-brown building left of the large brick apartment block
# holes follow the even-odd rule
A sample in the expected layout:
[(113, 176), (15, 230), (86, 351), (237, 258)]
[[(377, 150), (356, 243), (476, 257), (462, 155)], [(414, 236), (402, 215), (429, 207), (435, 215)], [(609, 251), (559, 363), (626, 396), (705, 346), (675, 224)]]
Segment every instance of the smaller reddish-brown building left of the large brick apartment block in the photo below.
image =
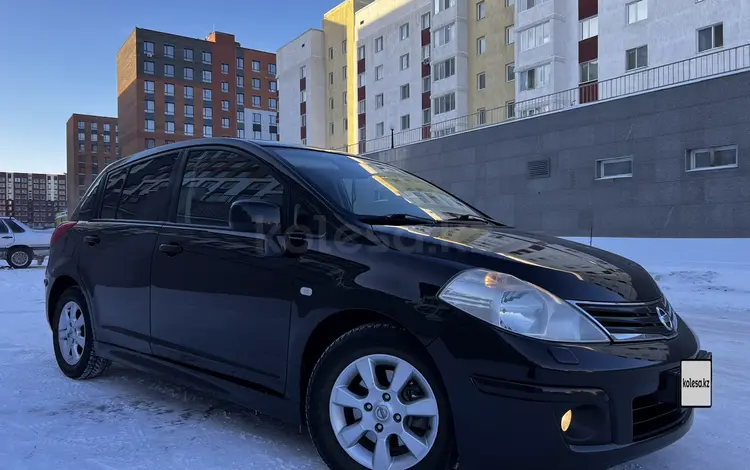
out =
[(120, 158), (117, 118), (73, 114), (65, 124), (67, 210), (72, 212), (94, 178)]

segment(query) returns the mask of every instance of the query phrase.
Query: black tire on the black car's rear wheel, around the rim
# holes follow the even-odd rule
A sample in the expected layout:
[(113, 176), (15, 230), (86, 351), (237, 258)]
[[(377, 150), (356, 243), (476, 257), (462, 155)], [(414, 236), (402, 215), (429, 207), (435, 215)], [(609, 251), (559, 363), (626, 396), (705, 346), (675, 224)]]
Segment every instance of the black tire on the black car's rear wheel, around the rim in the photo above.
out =
[[(65, 305), (71, 301), (77, 303), (81, 310), (85, 330), (85, 341), (81, 358), (73, 365), (68, 364), (63, 358), (62, 352), (60, 351), (58, 332), (62, 310)], [(57, 359), (58, 367), (60, 367), (63, 374), (71, 379), (93, 379), (94, 377), (102, 375), (111, 364), (109, 360), (96, 355), (94, 351), (94, 330), (91, 325), (91, 314), (89, 313), (89, 307), (83, 292), (81, 292), (78, 287), (67, 288), (60, 298), (57, 299), (55, 311), (52, 314), (52, 346), (55, 351), (55, 359)]]

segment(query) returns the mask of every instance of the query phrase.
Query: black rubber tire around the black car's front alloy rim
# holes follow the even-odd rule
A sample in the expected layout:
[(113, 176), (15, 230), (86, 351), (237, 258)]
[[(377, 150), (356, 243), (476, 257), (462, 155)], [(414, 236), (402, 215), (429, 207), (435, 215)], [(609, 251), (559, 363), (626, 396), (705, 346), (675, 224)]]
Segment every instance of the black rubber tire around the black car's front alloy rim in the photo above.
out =
[(355, 360), (389, 354), (408, 361), (427, 379), (438, 403), (438, 434), (430, 452), (410, 470), (453, 468), (457, 454), (448, 395), (440, 375), (411, 335), (393, 325), (373, 323), (355, 328), (331, 344), (318, 360), (307, 387), (305, 413), (310, 437), (326, 465), (333, 470), (362, 470), (339, 444), (329, 416), (329, 399), (339, 374)]

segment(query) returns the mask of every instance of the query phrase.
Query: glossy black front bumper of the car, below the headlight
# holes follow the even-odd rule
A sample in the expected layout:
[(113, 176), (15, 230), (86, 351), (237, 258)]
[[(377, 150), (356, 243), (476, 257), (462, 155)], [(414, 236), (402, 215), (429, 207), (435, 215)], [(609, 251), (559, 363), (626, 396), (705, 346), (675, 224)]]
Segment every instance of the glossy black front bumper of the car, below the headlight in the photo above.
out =
[(451, 399), (461, 470), (606, 469), (679, 440), (693, 423), (679, 406), (680, 361), (710, 357), (680, 327), (670, 341), (564, 347), (452, 329), (429, 350)]

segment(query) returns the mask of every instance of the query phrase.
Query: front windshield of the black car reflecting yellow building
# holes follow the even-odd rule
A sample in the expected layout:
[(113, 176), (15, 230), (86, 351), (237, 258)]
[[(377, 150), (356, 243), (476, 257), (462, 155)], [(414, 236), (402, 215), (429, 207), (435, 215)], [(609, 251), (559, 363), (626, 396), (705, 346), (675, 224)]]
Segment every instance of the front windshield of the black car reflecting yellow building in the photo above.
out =
[(330, 202), (358, 217), (483, 217), (437, 186), (392, 165), (304, 148), (274, 150)]

